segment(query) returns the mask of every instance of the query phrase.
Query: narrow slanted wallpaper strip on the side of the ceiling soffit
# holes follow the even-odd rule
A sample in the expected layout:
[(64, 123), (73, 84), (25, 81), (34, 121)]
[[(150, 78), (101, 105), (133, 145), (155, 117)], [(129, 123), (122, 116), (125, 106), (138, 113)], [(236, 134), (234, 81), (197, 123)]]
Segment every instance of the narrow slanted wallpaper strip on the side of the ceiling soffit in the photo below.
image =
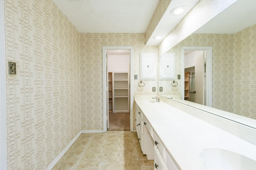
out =
[(164, 15), (164, 13), (167, 10), (171, 1), (172, 0), (159, 0), (156, 10), (155, 10), (155, 12), (151, 18), (151, 21), (148, 25), (148, 28), (146, 30), (146, 41), (145, 42), (148, 42), (148, 40), (150, 39), (150, 36), (156, 29), (157, 24), (161, 20), (162, 16)]

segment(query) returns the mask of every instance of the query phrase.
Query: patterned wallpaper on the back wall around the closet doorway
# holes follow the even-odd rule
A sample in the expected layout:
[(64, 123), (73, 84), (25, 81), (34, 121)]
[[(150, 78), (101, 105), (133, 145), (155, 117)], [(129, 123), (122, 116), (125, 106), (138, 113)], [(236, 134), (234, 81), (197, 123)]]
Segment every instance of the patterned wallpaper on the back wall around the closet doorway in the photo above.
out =
[[(81, 34), (83, 57), (81, 58), (81, 102), (82, 130), (103, 130), (103, 63), (102, 46), (132, 46), (133, 74), (138, 75), (134, 80), (134, 94), (157, 94), (152, 87), (158, 88), (156, 80), (143, 80), (145, 86), (138, 87), (140, 81), (140, 53), (158, 53), (157, 47), (145, 45), (145, 35), (142, 33), (83, 33)], [(156, 57), (156, 63), (158, 57)], [(158, 69), (156, 70), (156, 74)], [(134, 76), (134, 75), (130, 75)], [(135, 108), (134, 108), (135, 110)], [(135, 122), (135, 111), (134, 111)], [(134, 126), (135, 129), (135, 126)]]

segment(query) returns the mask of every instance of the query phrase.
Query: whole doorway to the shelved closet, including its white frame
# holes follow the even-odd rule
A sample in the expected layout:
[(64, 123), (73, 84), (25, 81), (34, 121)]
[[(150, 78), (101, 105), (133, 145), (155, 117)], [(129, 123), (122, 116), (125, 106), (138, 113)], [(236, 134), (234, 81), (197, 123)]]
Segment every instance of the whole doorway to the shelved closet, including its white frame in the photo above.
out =
[[(133, 89), (132, 86), (130, 86), (130, 84), (133, 84), (132, 78), (130, 75), (132, 75), (132, 56), (133, 56), (133, 47), (129, 47), (129, 46), (120, 46), (120, 47), (112, 47), (112, 46), (108, 46), (108, 47), (102, 47), (103, 49), (103, 131), (106, 132), (109, 128), (110, 123), (114, 122), (116, 123), (116, 128), (118, 128), (118, 126), (120, 124), (124, 124), (122, 123), (122, 120), (126, 119), (127, 117), (128, 122), (126, 122), (126, 127), (128, 126), (128, 129), (130, 131), (133, 131)], [(111, 67), (110, 65), (113, 63), (118, 63), (118, 61), (116, 60), (116, 62), (112, 62), (110, 65), (108, 64), (108, 56), (109, 55), (113, 55), (114, 52), (120, 51), (120, 53), (122, 52), (129, 52), (129, 58), (128, 60), (130, 63), (128, 65), (128, 71), (127, 70), (110, 70), (112, 72), (109, 73), (108, 69)], [(127, 55), (127, 53), (126, 53)], [(119, 58), (120, 59), (120, 58)], [(119, 61), (120, 63), (120, 61)], [(119, 67), (121, 64), (115, 64), (114, 68)], [(112, 78), (112, 82), (109, 82), (109, 76), (111, 75)], [(124, 76), (127, 77), (124, 78)], [(117, 79), (116, 79), (116, 78)], [(128, 83), (127, 83), (128, 82)], [(116, 88), (116, 92), (115, 92), (115, 83), (117, 85)], [(109, 90), (109, 84), (112, 84), (112, 93), (110, 92), (111, 90)], [(125, 87), (121, 87), (124, 86), (125, 84), (127, 84), (127, 88)], [(126, 90), (128, 90), (128, 95), (124, 95), (124, 93), (126, 93)], [(112, 96), (111, 96), (112, 95)], [(126, 96), (128, 98), (126, 98)], [(109, 102), (112, 98), (112, 104), (111, 102)], [(116, 101), (115, 101), (116, 100)], [(128, 101), (127, 101), (128, 100)], [(128, 105), (126, 105), (125, 107), (123, 107), (124, 105), (122, 105), (121, 103), (126, 103), (124, 102), (126, 101)], [(112, 108), (111, 108), (112, 107)], [(111, 110), (111, 111), (110, 111)], [(112, 114), (113, 113), (113, 114)], [(111, 115), (110, 115), (111, 114)], [(123, 116), (122, 116), (123, 114)], [(125, 116), (124, 116), (125, 115)], [(120, 121), (116, 121), (116, 116), (120, 116)], [(111, 120), (112, 119), (112, 120)], [(113, 121), (114, 120), (114, 121)], [(118, 125), (119, 124), (119, 125)], [(114, 128), (112, 128), (112, 130), (116, 130)], [(121, 129), (120, 129), (121, 130)]]

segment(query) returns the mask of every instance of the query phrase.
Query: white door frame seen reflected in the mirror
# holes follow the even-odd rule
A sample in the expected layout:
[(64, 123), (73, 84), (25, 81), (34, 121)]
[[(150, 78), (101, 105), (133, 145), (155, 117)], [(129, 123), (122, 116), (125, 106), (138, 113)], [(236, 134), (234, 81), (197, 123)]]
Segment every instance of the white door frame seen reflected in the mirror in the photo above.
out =
[[(206, 51), (206, 106), (212, 107), (212, 47), (182, 47), (181, 50), (181, 65), (182, 65), (182, 75), (183, 80), (185, 76), (184, 72), (184, 51), (194, 50), (194, 51)], [(184, 100), (184, 81), (181, 86), (181, 96)]]

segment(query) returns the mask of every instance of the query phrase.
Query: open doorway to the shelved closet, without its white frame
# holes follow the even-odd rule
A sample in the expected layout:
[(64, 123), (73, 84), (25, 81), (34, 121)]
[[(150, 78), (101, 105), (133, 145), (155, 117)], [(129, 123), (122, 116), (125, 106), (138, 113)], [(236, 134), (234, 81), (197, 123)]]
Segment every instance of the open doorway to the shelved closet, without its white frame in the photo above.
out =
[(130, 130), (130, 50), (107, 50), (108, 131)]

